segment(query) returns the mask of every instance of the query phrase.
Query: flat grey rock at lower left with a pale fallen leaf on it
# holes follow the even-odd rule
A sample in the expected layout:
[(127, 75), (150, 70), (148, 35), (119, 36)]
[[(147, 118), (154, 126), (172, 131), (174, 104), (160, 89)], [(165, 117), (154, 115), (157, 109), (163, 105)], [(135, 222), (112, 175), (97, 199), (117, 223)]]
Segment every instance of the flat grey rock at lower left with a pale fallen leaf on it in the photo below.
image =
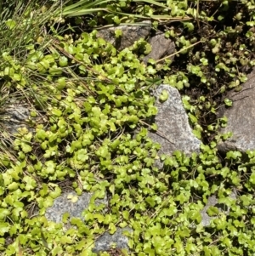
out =
[[(62, 193), (61, 196), (57, 197), (54, 200), (54, 204), (52, 207), (47, 208), (45, 217), (48, 220), (54, 221), (56, 223), (60, 223), (62, 221), (62, 216), (64, 213), (69, 213), (70, 218), (76, 217), (82, 219), (82, 212), (84, 209), (88, 208), (89, 202), (93, 193), (83, 192), (81, 196), (77, 196), (77, 202), (71, 202), (69, 196), (77, 196), (75, 192), (65, 192)], [(96, 199), (95, 204), (105, 204), (107, 205), (107, 199)]]

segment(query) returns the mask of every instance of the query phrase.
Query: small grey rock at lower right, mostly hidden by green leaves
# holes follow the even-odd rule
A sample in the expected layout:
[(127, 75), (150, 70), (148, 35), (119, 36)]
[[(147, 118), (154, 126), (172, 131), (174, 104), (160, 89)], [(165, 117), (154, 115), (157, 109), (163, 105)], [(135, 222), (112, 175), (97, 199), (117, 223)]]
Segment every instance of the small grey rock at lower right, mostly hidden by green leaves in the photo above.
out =
[[(229, 198), (236, 200), (235, 191), (232, 191), (232, 193), (229, 195)], [(218, 203), (217, 196), (215, 195), (209, 196), (207, 200), (207, 205), (201, 210), (201, 218), (202, 218), (201, 225), (204, 227), (209, 226), (212, 219), (216, 219), (216, 217), (210, 217), (207, 214), (207, 210), (210, 207), (216, 207), (218, 208), (219, 212), (229, 215), (229, 208), (222, 203)]]

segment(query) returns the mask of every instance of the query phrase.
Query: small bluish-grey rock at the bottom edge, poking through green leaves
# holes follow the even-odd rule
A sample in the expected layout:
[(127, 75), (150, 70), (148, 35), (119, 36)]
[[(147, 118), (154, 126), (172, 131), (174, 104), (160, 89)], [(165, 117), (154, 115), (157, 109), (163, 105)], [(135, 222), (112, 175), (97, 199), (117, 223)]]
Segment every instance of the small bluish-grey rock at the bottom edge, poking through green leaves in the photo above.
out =
[(99, 239), (95, 242), (94, 253), (100, 253), (104, 251), (108, 251), (111, 249), (111, 246), (115, 246), (119, 249), (128, 249), (128, 238), (122, 234), (123, 231), (133, 232), (132, 229), (126, 228), (117, 228), (116, 232), (111, 235), (108, 232), (105, 232), (104, 235), (100, 236)]

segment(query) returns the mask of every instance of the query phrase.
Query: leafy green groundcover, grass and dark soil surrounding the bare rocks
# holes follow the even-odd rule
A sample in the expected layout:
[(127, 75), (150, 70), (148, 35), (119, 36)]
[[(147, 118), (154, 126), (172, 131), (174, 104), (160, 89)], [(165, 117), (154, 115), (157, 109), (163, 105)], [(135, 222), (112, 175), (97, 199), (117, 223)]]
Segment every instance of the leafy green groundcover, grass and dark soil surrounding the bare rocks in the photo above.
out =
[[(12, 100), (30, 105), (16, 134), (1, 125), (1, 254), (95, 255), (100, 235), (129, 226), (123, 255), (254, 255), (255, 151), (219, 156), (217, 144), (230, 134), (218, 134), (227, 120), (216, 113), (231, 105), (224, 93), (240, 90), (254, 64), (255, 3), (9, 1), (0, 8), (1, 122)], [(118, 51), (97, 37), (99, 26), (145, 19), (176, 44), (171, 66), (172, 56), (144, 65), (144, 40)], [(148, 138), (156, 132), (151, 91), (161, 82), (184, 94), (200, 154), (159, 156)], [(45, 218), (62, 181), (77, 195), (94, 192), (84, 222), (68, 213), (62, 224)], [(95, 206), (105, 195), (109, 207)], [(204, 227), (201, 209), (212, 195), (229, 213), (208, 208), (214, 218)]]

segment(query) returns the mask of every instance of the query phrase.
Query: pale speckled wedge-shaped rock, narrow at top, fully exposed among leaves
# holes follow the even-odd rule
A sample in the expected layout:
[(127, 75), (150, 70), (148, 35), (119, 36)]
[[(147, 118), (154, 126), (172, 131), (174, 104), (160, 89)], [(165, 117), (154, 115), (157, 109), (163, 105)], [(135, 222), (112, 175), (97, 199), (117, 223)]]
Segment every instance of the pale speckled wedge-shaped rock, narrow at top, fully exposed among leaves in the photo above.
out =
[[(163, 90), (167, 91), (168, 99), (161, 103), (159, 98)], [(187, 155), (192, 152), (199, 153), (201, 141), (192, 133), (178, 90), (161, 84), (156, 89), (155, 96), (158, 108), (155, 122), (158, 129), (156, 133), (150, 132), (149, 136), (161, 145), (159, 154), (171, 155), (173, 151), (183, 151)], [(161, 168), (162, 164), (156, 162), (156, 167)]]

